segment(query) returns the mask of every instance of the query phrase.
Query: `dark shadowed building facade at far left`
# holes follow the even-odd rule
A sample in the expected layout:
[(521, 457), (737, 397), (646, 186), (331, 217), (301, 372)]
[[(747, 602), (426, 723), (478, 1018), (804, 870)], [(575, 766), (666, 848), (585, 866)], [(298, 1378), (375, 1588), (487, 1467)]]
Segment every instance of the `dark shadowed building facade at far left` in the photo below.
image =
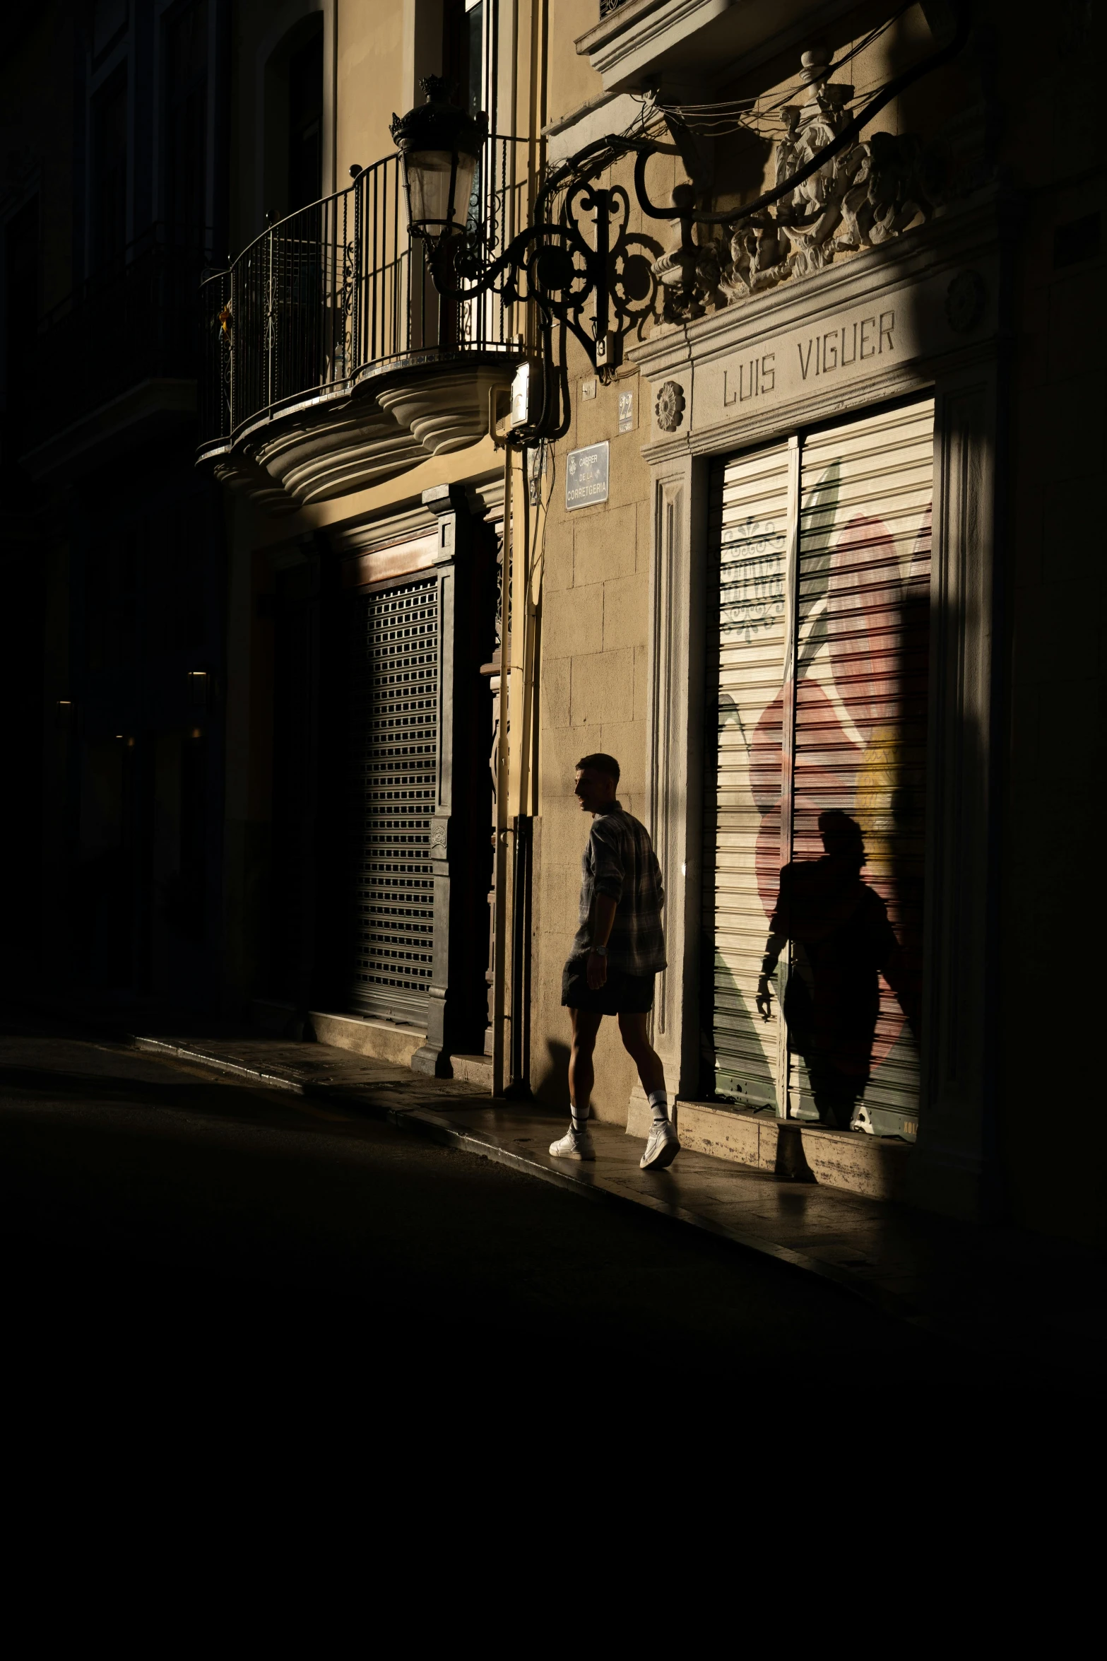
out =
[(3, 25), (3, 967), (51, 1002), (219, 1003), (224, 533), (194, 296), (227, 238), (227, 22), (119, 0)]

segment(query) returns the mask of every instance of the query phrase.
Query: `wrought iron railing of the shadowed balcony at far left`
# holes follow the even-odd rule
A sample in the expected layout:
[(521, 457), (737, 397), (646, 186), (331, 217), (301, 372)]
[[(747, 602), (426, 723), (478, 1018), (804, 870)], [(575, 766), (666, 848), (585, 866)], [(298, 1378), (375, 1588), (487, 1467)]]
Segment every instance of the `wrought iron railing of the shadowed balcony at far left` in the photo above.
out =
[(198, 370), (204, 234), (154, 224), (38, 322), (25, 448), (151, 379)]

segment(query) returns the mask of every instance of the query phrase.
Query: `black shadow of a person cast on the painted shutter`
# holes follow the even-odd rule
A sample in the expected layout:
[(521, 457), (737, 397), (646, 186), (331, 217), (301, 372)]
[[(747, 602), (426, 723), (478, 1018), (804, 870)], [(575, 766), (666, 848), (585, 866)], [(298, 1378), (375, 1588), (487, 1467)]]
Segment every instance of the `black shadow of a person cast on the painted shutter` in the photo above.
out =
[(888, 909), (861, 877), (861, 827), (831, 809), (818, 816), (818, 832), (823, 859), (792, 860), (780, 872), (757, 1012), (768, 1020), (768, 977), (790, 940), (795, 950), (783, 995), (788, 1043), (807, 1063), (820, 1123), (848, 1129), (871, 1071), (881, 973), (913, 1030), (916, 1020)]

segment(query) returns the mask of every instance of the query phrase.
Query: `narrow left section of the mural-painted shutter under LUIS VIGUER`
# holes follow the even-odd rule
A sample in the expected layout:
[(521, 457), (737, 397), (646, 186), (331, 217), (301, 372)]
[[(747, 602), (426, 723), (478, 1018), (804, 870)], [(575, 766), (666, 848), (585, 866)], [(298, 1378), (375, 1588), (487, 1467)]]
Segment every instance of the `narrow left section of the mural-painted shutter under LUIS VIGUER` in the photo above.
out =
[(753, 1007), (765, 953), (765, 865), (780, 870), (780, 686), (785, 659), (788, 445), (739, 457), (715, 475), (712, 538), (720, 550), (717, 608), (717, 756), (705, 814), (714, 938), (715, 1088), (763, 1106), (777, 1101), (782, 1033), (773, 1007)]

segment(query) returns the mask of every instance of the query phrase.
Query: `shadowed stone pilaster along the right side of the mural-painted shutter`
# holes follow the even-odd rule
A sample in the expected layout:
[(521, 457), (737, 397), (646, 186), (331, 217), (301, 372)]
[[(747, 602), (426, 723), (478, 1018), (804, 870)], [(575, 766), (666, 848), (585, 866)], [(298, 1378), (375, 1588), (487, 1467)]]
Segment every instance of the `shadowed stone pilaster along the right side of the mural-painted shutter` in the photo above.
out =
[[(991, 1204), (996, 880), (996, 364), (943, 377), (934, 404), (934, 568), (923, 1113), (914, 1189)], [(992, 1065), (989, 1065), (989, 1061)]]

